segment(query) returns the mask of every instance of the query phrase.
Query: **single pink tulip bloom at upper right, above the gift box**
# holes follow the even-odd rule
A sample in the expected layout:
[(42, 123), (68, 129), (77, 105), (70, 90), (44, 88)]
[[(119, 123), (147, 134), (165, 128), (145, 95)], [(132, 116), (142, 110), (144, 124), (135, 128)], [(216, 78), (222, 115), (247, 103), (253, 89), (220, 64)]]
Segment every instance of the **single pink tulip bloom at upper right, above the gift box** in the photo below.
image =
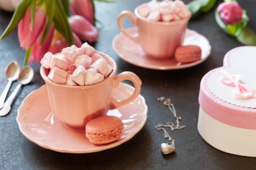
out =
[(236, 2), (224, 2), (218, 6), (220, 19), (226, 24), (235, 24), (242, 21), (243, 9)]

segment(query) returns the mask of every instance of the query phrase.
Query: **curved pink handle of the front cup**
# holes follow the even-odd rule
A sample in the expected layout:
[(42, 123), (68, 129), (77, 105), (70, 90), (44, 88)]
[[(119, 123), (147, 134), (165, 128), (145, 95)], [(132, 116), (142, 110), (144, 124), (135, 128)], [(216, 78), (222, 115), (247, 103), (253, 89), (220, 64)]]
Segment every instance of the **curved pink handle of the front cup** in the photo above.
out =
[(114, 110), (116, 108), (121, 107), (122, 105), (129, 103), (130, 101), (133, 101), (139, 95), (140, 89), (141, 89), (141, 79), (139, 79), (137, 75), (135, 75), (130, 71), (125, 71), (117, 75), (113, 81), (113, 88), (118, 87), (119, 83), (125, 80), (131, 81), (133, 83), (134, 85), (133, 94), (127, 99), (124, 99), (123, 101), (117, 101), (116, 99), (111, 98), (110, 110)]

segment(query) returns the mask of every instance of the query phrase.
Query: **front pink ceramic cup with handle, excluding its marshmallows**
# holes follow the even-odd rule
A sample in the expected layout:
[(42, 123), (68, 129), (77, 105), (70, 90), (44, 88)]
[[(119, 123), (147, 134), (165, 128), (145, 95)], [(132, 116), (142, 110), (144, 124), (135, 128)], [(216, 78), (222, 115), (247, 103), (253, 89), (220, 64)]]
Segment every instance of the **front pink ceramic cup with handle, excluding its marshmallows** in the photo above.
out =
[[(100, 83), (85, 86), (67, 86), (54, 83), (47, 78), (49, 69), (40, 68), (42, 79), (46, 83), (49, 96), (49, 103), (53, 114), (61, 122), (73, 128), (84, 128), (86, 123), (93, 118), (102, 116), (108, 110), (114, 110), (133, 101), (139, 95), (141, 80), (137, 75), (125, 71), (115, 76), (117, 64), (110, 56), (99, 52), (113, 67), (113, 72)], [(117, 101), (111, 95), (112, 89), (119, 86), (119, 83), (129, 80), (133, 83), (135, 91), (122, 101)]]

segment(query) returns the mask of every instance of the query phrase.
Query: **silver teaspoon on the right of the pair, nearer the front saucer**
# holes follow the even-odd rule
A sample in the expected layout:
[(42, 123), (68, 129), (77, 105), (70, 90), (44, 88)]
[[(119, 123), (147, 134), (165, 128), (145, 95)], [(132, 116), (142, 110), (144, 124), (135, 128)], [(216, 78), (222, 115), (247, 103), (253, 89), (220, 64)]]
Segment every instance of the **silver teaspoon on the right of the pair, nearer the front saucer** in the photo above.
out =
[(20, 75), (18, 77), (19, 84), (14, 89), (14, 91), (11, 93), (9, 98), (5, 101), (3, 108), (0, 110), (0, 116), (5, 116), (5, 115), (9, 114), (9, 112), (11, 110), (11, 103), (13, 102), (13, 99), (15, 99), (15, 96), (17, 95), (20, 87), (22, 87), (22, 85), (28, 85), (28, 83), (30, 83), (30, 81), (32, 81), (33, 76), (34, 76), (34, 71), (31, 67), (26, 66), (26, 67), (24, 67), (24, 69), (22, 69), (22, 71), (20, 72)]

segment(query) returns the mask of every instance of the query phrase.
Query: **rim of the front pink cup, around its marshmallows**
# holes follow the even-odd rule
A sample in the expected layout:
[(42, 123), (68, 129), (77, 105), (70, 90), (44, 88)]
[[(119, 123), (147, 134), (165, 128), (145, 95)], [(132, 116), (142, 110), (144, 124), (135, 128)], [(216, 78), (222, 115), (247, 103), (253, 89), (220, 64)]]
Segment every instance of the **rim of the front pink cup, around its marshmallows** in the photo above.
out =
[(106, 79), (104, 79), (103, 81), (100, 81), (99, 83), (95, 83), (92, 85), (77, 85), (77, 86), (62, 85), (59, 83), (55, 83), (55, 82), (51, 81), (50, 79), (48, 79), (48, 77), (44, 74), (45, 68), (42, 66), (40, 67), (40, 75), (41, 75), (42, 79), (44, 79), (45, 83), (49, 83), (55, 87), (60, 87), (60, 88), (65, 88), (65, 89), (90, 89), (93, 87), (98, 87), (98, 86), (110, 81), (110, 79), (113, 79), (113, 77), (117, 73), (117, 63), (115, 62), (115, 60), (113, 58), (111, 58), (107, 54), (104, 54), (103, 52), (99, 52), (99, 51), (96, 51), (96, 52), (103, 55), (103, 57), (106, 57), (111, 63), (113, 63), (112, 73), (110, 73), (110, 75)]

